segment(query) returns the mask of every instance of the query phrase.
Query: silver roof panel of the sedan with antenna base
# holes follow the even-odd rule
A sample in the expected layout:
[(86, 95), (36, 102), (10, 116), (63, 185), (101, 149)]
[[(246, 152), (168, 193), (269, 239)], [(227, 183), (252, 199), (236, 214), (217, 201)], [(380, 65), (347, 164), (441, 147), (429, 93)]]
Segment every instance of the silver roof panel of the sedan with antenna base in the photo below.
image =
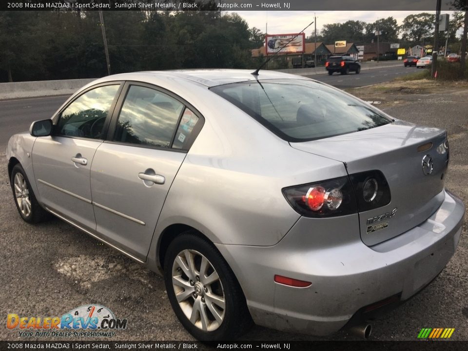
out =
[(307, 79), (300, 76), (260, 70), (258, 76), (252, 73), (254, 69), (194, 69), (194, 70), (172, 70), (172, 71), (143, 71), (133, 73), (121, 73), (113, 76), (107, 76), (98, 79), (96, 82), (105, 82), (111, 80), (137, 80), (147, 81), (149, 83), (160, 80), (181, 79), (207, 87), (223, 85), (242, 81), (251, 81), (257, 79)]

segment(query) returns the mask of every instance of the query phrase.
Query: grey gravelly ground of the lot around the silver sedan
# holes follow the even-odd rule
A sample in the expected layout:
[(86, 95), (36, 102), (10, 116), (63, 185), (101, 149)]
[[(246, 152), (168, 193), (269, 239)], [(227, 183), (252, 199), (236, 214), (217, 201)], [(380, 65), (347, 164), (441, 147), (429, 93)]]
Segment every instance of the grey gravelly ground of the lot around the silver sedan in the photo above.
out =
[[(351, 93), (380, 101), (379, 107), (394, 117), (447, 128), (451, 153), (447, 188), (468, 203), (467, 85), (397, 82)], [(4, 152), (0, 158), (5, 159)], [(100, 304), (129, 321), (128, 329), (113, 340), (193, 340), (172, 312), (161, 277), (58, 219), (39, 225), (23, 222), (12, 200), (6, 164), (0, 169), (0, 242), (3, 318), (7, 313), (59, 316), (81, 305)], [(456, 329), (453, 340), (468, 340), (467, 268), (465, 219), (460, 245), (447, 268), (424, 291), (375, 321), (371, 338), (415, 340), (421, 328), (442, 327)], [(346, 331), (316, 338), (261, 327), (245, 336), (245, 340), (352, 339)], [(3, 324), (0, 340), (20, 337)]]

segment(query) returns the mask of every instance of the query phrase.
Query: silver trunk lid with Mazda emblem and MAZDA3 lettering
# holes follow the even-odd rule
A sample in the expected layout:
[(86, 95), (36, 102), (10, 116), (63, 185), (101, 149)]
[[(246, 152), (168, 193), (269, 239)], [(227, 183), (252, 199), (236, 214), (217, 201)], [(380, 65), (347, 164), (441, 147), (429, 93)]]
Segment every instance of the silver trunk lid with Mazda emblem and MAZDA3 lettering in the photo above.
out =
[[(342, 161), (349, 175), (371, 170), (383, 173), (390, 187), (390, 203), (359, 212), (361, 239), (371, 246), (419, 225), (439, 208), (448, 162), (448, 150), (440, 145), (446, 137), (445, 130), (397, 120), (360, 132), (290, 144), (298, 150)], [(430, 148), (428, 143), (432, 143)], [(432, 159), (429, 175), (423, 170), (426, 155)]]

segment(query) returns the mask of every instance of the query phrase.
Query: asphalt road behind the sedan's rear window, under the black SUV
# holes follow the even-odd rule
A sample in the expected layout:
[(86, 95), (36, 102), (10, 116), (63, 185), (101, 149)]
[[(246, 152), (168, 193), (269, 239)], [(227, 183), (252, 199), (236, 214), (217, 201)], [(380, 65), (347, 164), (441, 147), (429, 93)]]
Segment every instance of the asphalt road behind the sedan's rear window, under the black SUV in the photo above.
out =
[[(324, 68), (317, 68), (317, 71), (321, 70), (324, 70)], [(374, 68), (371, 70), (361, 71), (359, 74), (351, 72), (349, 75), (333, 73), (331, 76), (327, 74), (310, 75), (305, 77), (319, 80), (340, 89), (346, 89), (388, 82), (393, 80), (393, 78), (404, 76), (409, 73), (419, 72), (420, 70), (421, 69), (417, 69), (416, 67), (405, 67), (401, 64), (401, 66), (396, 67)]]

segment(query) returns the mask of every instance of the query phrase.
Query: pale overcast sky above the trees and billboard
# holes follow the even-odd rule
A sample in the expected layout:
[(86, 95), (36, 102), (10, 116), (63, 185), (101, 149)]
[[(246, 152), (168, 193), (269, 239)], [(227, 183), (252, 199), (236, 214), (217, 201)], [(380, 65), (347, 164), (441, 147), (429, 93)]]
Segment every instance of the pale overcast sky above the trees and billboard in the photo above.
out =
[[(257, 27), (265, 32), (268, 22), (269, 34), (297, 33), (313, 21), (313, 11), (235, 11), (249, 23), (249, 27)], [(392, 16), (398, 24), (402, 24), (406, 16), (423, 11), (317, 11), (317, 34), (324, 24), (343, 23), (347, 20), (374, 22), (379, 18)], [(435, 14), (435, 11), (425, 11)], [(442, 13), (451, 14), (452, 11)], [(306, 37), (313, 33), (313, 24), (305, 31)]]

